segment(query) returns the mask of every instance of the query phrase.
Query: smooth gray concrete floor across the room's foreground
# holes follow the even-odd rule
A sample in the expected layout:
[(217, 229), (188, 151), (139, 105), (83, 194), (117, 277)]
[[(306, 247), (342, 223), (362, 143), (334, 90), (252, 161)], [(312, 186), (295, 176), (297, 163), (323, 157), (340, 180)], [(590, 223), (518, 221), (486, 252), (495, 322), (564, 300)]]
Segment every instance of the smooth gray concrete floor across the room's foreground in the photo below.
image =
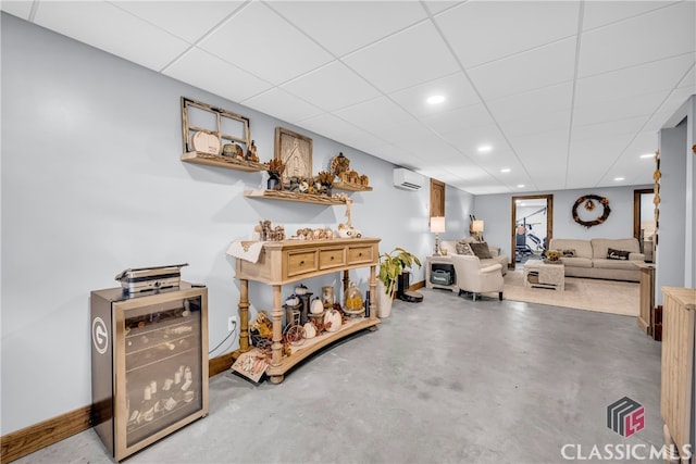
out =
[[(660, 343), (635, 318), (421, 291), (281, 385), (211, 378), (208, 417), (126, 462), (558, 463), (662, 446)], [(606, 419), (624, 396), (645, 407), (629, 438)], [(90, 429), (16, 462), (112, 461)]]

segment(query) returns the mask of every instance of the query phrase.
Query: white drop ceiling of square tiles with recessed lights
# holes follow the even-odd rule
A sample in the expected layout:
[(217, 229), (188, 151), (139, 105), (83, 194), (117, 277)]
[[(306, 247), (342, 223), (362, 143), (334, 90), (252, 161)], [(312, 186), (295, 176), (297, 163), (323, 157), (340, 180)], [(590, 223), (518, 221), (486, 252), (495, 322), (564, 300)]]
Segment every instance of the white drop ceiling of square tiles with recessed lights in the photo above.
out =
[(694, 0), (2, 10), (474, 195), (651, 184), (696, 93)]

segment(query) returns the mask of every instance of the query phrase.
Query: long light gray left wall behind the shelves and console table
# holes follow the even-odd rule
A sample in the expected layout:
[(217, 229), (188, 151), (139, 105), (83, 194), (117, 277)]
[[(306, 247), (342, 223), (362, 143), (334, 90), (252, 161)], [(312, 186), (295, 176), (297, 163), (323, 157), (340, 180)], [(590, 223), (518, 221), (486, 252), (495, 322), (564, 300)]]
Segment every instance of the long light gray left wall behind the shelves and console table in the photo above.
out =
[[(313, 138), (314, 172), (343, 151), (374, 187), (351, 195), (353, 224), (381, 237), (383, 252), (401, 246), (423, 260), (431, 253), (427, 179), (418, 192), (395, 189), (389, 163), (5, 13), (1, 18), (1, 435), (90, 403), (89, 291), (116, 286), (116, 273), (188, 262), (183, 278), (209, 287), (212, 349), (237, 313), (229, 241), (250, 238), (264, 218), (288, 231), (345, 221), (343, 206), (245, 198), (245, 189), (264, 185), (265, 173), (182, 163), (182, 96), (250, 117), (262, 161), (273, 155), (276, 126)], [(450, 188), (446, 195), (450, 224), (463, 223), (472, 196)], [(351, 272), (363, 290), (366, 276)], [(423, 278), (424, 269), (413, 272), (412, 281)], [(319, 291), (338, 279), (306, 284)], [(250, 287), (252, 315), (270, 309), (268, 288)], [(237, 337), (211, 358), (236, 348)]]

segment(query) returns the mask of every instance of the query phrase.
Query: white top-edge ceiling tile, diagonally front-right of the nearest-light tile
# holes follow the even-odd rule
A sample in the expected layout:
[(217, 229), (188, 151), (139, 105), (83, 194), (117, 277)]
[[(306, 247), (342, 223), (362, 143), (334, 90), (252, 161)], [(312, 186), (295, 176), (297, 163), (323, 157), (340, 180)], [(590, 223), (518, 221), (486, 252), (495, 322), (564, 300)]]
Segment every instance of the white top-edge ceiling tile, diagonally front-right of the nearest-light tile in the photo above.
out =
[(469, 68), (576, 35), (577, 12), (577, 1), (471, 1), (435, 22)]

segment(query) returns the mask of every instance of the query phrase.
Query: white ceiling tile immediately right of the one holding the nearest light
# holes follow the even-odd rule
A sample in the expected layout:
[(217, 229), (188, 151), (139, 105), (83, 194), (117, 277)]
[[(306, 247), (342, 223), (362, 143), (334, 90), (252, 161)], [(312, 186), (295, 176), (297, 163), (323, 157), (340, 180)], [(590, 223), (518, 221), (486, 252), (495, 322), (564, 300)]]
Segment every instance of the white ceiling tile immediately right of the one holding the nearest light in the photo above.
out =
[(468, 71), (484, 99), (522, 93), (573, 79), (575, 39), (560, 40)]

